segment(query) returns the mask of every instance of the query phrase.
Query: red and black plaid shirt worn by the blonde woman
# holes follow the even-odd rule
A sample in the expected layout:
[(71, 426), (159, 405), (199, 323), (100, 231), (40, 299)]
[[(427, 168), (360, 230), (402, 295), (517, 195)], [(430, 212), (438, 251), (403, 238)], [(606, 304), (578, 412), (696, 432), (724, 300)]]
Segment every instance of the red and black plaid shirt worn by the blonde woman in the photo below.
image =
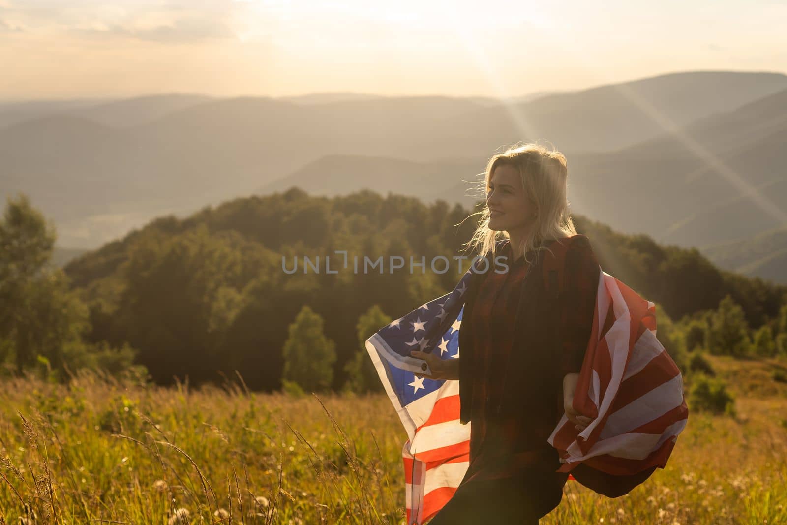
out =
[[(563, 333), (563, 352), (559, 360), (562, 377), (582, 368), (593, 324), (600, 268), (584, 235), (571, 236), (566, 242), (552, 241), (548, 246), (554, 255), (544, 254), (540, 277), (545, 279), (548, 290), (550, 283), (552, 287), (555, 283), (560, 287), (557, 293)], [(554, 405), (556, 411), (547, 410), (541, 415), (523, 413), (503, 420), (495, 417), (501, 400), (501, 375), (512, 351), (514, 316), (523, 279), (530, 269), (523, 257), (514, 259), (508, 242), (501, 248), (500, 255), (507, 257), (508, 272), (496, 273), (495, 267), (490, 266), (469, 316), (474, 335), (473, 362), (468, 363), (473, 371), (473, 413), (471, 465), (465, 480), (499, 477), (510, 474), (512, 469), (537, 464), (551, 471), (559, 467), (556, 450), (546, 438), (563, 415), (562, 390), (534, 393), (535, 398), (543, 398), (545, 404)], [(528, 257), (531, 261), (534, 259), (534, 256)], [(527, 382), (526, 377), (509, 377), (508, 380)], [(552, 416), (545, 416), (550, 413)], [(518, 460), (512, 460), (515, 455)]]

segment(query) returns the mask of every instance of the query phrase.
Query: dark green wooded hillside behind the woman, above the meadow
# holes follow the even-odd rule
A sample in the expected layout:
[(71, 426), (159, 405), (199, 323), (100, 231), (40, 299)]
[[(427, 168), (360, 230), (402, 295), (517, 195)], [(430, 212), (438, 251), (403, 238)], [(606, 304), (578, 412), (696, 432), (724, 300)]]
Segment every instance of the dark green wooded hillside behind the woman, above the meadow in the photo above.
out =
[[(0, 256), (0, 362), (6, 373), (43, 367), (55, 378), (80, 366), (139, 367), (159, 384), (238, 371), (252, 389), (311, 377), (301, 386), (364, 390), (375, 382), (359, 378), (369, 373), (361, 342), (453, 290), (461, 273), (452, 257), (475, 255), (463, 251), (477, 224), (472, 211), (369, 190), (327, 198), (293, 187), (184, 219), (160, 217), (58, 270), (48, 264), (54, 228), (24, 196), (9, 200), (0, 224), (9, 248)], [(698, 346), (787, 353), (787, 287), (719, 270), (695, 249), (574, 220), (604, 271), (656, 303), (660, 341), (679, 366)], [(352, 262), (341, 268), (337, 251), (349, 261), (443, 256), (451, 267), (356, 273)], [(295, 257), (325, 256), (337, 272), (283, 269)], [(321, 367), (312, 375), (294, 370), (303, 353), (320, 356), (305, 365)]]

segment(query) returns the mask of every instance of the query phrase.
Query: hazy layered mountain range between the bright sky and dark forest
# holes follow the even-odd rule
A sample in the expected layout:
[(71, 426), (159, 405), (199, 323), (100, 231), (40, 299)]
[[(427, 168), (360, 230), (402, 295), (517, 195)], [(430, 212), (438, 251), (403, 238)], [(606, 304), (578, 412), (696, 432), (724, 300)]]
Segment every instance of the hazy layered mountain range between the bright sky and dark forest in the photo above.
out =
[(783, 236), (767, 233), (787, 225), (781, 73), (680, 72), (505, 101), (334, 93), (6, 103), (0, 195), (24, 191), (54, 219), (60, 246), (84, 249), (155, 216), (291, 186), (473, 205), (488, 158), (535, 139), (566, 153), (572, 209), (787, 282)]

